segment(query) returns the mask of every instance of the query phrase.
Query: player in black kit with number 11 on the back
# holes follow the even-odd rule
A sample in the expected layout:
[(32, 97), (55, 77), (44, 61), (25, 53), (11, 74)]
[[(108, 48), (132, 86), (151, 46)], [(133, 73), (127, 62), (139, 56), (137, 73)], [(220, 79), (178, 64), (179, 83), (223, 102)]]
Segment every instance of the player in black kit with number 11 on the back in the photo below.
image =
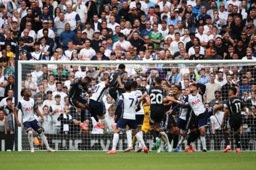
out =
[(224, 110), (224, 117), (222, 120), (222, 125), (224, 125), (225, 119), (227, 115), (229, 114), (229, 129), (227, 129), (224, 132), (224, 139), (226, 142), (226, 149), (223, 152), (227, 152), (231, 149), (230, 146), (230, 136), (229, 133), (233, 132), (234, 139), (236, 140), (237, 144), (237, 150), (236, 153), (241, 152), (241, 145), (240, 145), (240, 136), (239, 136), (239, 130), (242, 122), (242, 115), (241, 111), (246, 111), (246, 107), (244, 106), (244, 103), (242, 102), (241, 98), (236, 96), (237, 94), (237, 88), (236, 87), (230, 87), (229, 89), (229, 99), (226, 101), (226, 109)]

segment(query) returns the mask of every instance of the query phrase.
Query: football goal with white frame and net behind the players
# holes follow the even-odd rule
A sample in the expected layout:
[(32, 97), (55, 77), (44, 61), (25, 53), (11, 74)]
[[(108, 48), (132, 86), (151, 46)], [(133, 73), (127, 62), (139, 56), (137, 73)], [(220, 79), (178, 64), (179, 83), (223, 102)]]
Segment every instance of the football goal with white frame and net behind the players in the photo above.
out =
[[(161, 77), (163, 83), (169, 85), (169, 94), (172, 94), (175, 85), (181, 87), (180, 96), (186, 95), (185, 89), (189, 86), (189, 80), (206, 84), (204, 95), (205, 107), (216, 104), (224, 104), (228, 99), (230, 86), (237, 87), (239, 96), (245, 103), (246, 112), (242, 112), (242, 124), (240, 129), (242, 150), (255, 151), (255, 79), (256, 63), (253, 60), (222, 60), (222, 61), (18, 61), (18, 92), (17, 98), (21, 99), (20, 90), (29, 88), (32, 96), (45, 121), (41, 123), (47, 136), (50, 147), (55, 150), (69, 151), (107, 151), (112, 147), (113, 134), (103, 135), (103, 130), (96, 128), (95, 119), (89, 111), (86, 111), (86, 126), (88, 130), (79, 127), (80, 110), (69, 104), (70, 83), (75, 78), (89, 76), (92, 82), (91, 89), (100, 82), (102, 77), (109, 77), (110, 73), (117, 69), (120, 63), (125, 64), (123, 82), (137, 81), (139, 89), (145, 92), (153, 86), (154, 79)], [(142, 66), (142, 71), (137, 73), (136, 64)], [(59, 94), (60, 107), (54, 107), (55, 96)], [(88, 94), (82, 93), (82, 98), (88, 100)], [(104, 93), (105, 117), (109, 124), (114, 124), (115, 102), (108, 95), (108, 89)], [(47, 107), (45, 107), (47, 106)], [(174, 115), (179, 116), (179, 110)], [(224, 131), (221, 126), (224, 112), (219, 111), (208, 119), (206, 128), (206, 146), (208, 151), (222, 151), (225, 148)], [(62, 118), (60, 118), (62, 117)], [(40, 118), (35, 114), (40, 122)], [(21, 120), (21, 113), (19, 113)], [(228, 119), (228, 118), (227, 118)], [(225, 121), (228, 124), (228, 120)], [(168, 129), (166, 129), (168, 134)], [(189, 135), (189, 132), (188, 132)], [(34, 132), (34, 146), (37, 150), (46, 150), (40, 137)], [(147, 147), (151, 148), (153, 139), (150, 133), (143, 134)], [(181, 138), (181, 136), (179, 136)], [(236, 142), (230, 134), (232, 150), (236, 148)], [(187, 137), (186, 137), (187, 139)], [(175, 144), (172, 141), (172, 145)], [(187, 144), (185, 140), (181, 150)], [(137, 147), (138, 144), (136, 144)], [(194, 148), (201, 151), (200, 137), (193, 142)], [(126, 133), (121, 132), (117, 150), (127, 148)], [(161, 144), (164, 151), (163, 143)], [(18, 128), (18, 150), (30, 150), (28, 134), (24, 127)]]

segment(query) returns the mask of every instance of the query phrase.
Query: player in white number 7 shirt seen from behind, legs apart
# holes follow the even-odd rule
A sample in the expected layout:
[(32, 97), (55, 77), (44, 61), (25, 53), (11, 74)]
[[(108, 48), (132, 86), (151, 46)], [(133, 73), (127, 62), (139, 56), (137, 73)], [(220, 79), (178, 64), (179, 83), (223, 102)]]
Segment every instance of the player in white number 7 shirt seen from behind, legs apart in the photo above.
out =
[(122, 115), (121, 118), (118, 120), (116, 129), (114, 131), (112, 150), (110, 152), (107, 152), (106, 154), (116, 154), (116, 146), (119, 140), (119, 133), (121, 132), (121, 130), (125, 130), (126, 126), (129, 126), (129, 128), (133, 132), (133, 135), (135, 135), (137, 140), (141, 143), (141, 146), (144, 149), (144, 153), (147, 153), (148, 150), (145, 146), (144, 140), (137, 131), (135, 113), (140, 110), (140, 107), (135, 109), (137, 97), (131, 93), (130, 83), (125, 84), (124, 88), (126, 92), (120, 95), (120, 99), (118, 101), (118, 105), (115, 111), (115, 115), (117, 115), (118, 110), (120, 109), (121, 105), (123, 105)]

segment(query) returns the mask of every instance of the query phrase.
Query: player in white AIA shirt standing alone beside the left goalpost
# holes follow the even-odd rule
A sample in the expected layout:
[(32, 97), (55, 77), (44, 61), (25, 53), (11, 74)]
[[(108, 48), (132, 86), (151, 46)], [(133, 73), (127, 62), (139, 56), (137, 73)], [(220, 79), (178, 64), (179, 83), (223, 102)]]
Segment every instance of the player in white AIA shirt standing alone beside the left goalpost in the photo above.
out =
[(41, 117), (41, 122), (44, 122), (44, 116), (40, 113), (38, 110), (34, 99), (30, 98), (32, 93), (29, 89), (23, 89), (20, 92), (20, 95), (23, 96), (23, 99), (18, 102), (18, 105), (14, 109), (14, 117), (16, 120), (16, 123), (19, 127), (22, 126), (22, 124), (18, 120), (18, 111), (19, 109), (22, 111), (23, 118), (22, 118), (22, 123), (25, 127), (26, 132), (28, 133), (28, 139), (29, 139), (29, 144), (31, 148), (31, 152), (35, 152), (34, 146), (33, 146), (33, 129), (36, 131), (42, 141), (45, 143), (46, 148), (49, 152), (55, 152), (55, 150), (51, 149), (49, 147), (48, 141), (46, 139), (46, 136), (44, 132), (42, 131), (42, 128), (40, 124), (37, 122), (37, 120), (34, 117), (34, 111), (36, 112), (37, 115)]

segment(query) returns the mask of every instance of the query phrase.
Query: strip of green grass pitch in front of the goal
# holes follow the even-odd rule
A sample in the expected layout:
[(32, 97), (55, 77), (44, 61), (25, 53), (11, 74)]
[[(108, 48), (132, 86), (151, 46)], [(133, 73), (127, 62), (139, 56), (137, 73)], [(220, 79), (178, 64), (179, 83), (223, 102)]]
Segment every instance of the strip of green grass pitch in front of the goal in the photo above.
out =
[(105, 152), (0, 152), (0, 169), (162, 170), (256, 169), (256, 152), (122, 153)]

